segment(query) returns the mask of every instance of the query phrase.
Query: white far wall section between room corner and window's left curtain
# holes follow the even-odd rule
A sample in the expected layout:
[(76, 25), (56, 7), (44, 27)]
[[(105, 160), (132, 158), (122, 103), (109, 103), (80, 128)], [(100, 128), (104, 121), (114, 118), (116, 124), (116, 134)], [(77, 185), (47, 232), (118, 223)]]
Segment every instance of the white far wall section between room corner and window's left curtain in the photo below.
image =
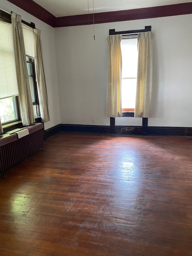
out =
[[(102, 26), (101, 26), (102, 27)], [(106, 31), (74, 26), (55, 29), (61, 123), (109, 125), (105, 116)], [(102, 34), (102, 35), (101, 35)]]

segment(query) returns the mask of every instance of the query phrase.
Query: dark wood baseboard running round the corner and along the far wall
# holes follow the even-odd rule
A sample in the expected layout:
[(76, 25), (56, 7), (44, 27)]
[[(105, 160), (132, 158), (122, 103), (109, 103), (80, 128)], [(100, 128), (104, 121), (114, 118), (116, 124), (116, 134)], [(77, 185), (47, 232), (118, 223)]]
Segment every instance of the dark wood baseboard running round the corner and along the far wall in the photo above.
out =
[(122, 135), (148, 135), (148, 136), (190, 136), (192, 137), (192, 127), (160, 127), (148, 126), (121, 126), (114, 125), (78, 125), (78, 124), (59, 124), (43, 132), (44, 141), (58, 134), (59, 132), (70, 133), (92, 133), (92, 134), (122, 134)]

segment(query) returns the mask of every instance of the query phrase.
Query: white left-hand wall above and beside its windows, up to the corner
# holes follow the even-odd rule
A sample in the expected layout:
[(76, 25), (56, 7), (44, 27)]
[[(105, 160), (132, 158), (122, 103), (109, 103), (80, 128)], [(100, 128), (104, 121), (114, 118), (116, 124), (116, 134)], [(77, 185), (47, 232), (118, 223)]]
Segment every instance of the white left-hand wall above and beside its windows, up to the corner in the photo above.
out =
[(35, 23), (37, 29), (41, 30), (41, 40), (44, 53), (45, 78), (49, 102), (50, 121), (45, 123), (45, 129), (60, 124), (60, 111), (58, 100), (58, 85), (55, 60), (54, 28), (23, 11), (16, 5), (6, 0), (1, 0), (0, 8), (7, 12), (15, 12), (22, 16), (22, 20)]

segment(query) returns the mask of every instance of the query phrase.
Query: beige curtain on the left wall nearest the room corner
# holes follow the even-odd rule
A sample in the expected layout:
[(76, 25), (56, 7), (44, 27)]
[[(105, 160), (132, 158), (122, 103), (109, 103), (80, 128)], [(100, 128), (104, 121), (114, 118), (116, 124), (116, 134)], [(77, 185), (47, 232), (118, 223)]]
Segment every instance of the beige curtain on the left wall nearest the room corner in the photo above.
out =
[(47, 91), (46, 91), (43, 50), (42, 50), (40, 35), (41, 35), (41, 30), (34, 29), (35, 69), (36, 69), (36, 77), (37, 77), (39, 106), (40, 106), (42, 122), (48, 122), (50, 120), (49, 106), (48, 106), (48, 98), (47, 98)]

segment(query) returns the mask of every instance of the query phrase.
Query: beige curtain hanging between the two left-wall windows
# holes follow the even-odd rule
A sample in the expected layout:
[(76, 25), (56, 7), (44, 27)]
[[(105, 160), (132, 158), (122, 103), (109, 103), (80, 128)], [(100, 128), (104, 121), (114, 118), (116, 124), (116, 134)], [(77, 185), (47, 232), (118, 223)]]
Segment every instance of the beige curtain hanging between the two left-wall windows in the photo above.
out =
[(23, 125), (30, 125), (35, 122), (35, 116), (29, 87), (21, 16), (12, 13), (11, 19), (21, 119)]

